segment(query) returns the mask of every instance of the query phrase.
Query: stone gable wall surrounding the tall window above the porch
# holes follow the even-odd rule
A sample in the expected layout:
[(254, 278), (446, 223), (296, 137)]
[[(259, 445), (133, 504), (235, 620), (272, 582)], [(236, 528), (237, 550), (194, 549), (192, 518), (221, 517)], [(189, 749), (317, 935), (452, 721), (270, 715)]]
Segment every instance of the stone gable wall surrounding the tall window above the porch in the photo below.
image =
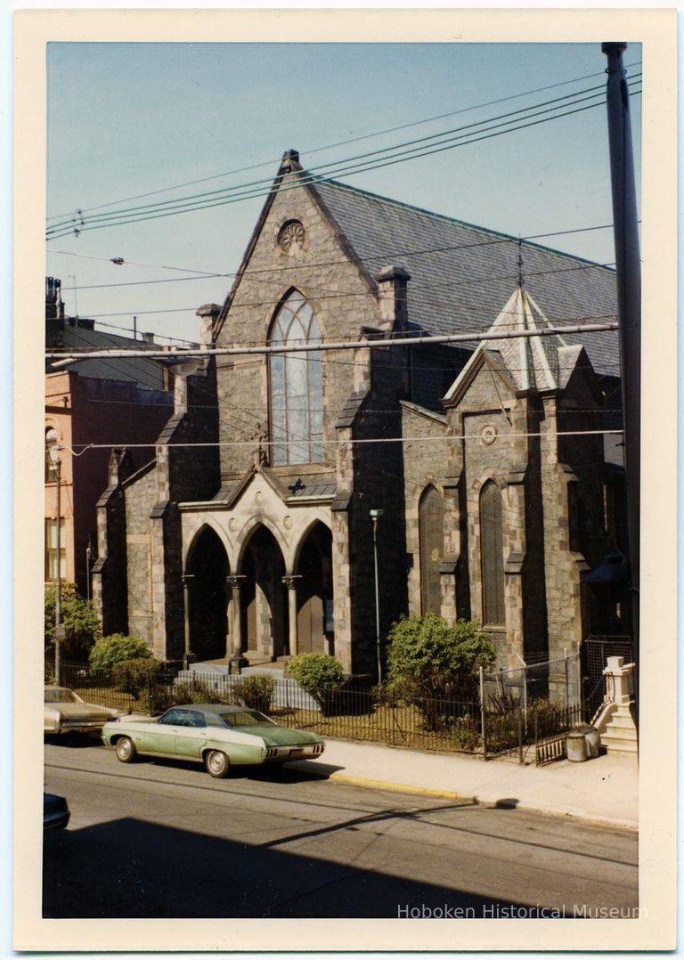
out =
[[(292, 175), (283, 180), (287, 187)], [(304, 243), (283, 250), (279, 233), (287, 221), (304, 228)], [(321, 207), (304, 189), (277, 194), (265, 221), (257, 228), (244, 274), (232, 292), (228, 318), (217, 346), (263, 343), (282, 299), (292, 288), (313, 306), (324, 339), (358, 338), (363, 326), (379, 326), (375, 284), (351, 261)], [(335, 297), (338, 293), (339, 297)], [(354, 390), (354, 364), (349, 351), (323, 355), (325, 439), (335, 438), (334, 422)], [(218, 401), (222, 444), (265, 436), (268, 422), (268, 361), (263, 356), (219, 359)], [(253, 459), (250, 447), (222, 447), (221, 473), (239, 476)], [(327, 455), (334, 467), (334, 455)]]

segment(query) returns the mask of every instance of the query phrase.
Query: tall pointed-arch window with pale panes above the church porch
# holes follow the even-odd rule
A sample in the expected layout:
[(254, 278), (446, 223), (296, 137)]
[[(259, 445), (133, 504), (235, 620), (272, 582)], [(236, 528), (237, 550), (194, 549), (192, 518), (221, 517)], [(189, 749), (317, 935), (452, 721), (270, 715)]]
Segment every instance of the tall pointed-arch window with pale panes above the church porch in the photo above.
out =
[[(321, 340), (311, 304), (293, 290), (271, 327), (272, 346)], [(316, 351), (270, 355), (271, 440), (274, 465), (323, 460), (323, 370)]]

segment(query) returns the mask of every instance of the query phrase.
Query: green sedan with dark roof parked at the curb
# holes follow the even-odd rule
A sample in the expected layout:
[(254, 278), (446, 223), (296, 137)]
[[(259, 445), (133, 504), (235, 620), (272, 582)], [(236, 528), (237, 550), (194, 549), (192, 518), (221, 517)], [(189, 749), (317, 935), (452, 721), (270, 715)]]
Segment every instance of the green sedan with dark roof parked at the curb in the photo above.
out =
[(325, 749), (318, 733), (290, 730), (258, 710), (226, 704), (172, 707), (156, 719), (121, 717), (105, 724), (102, 738), (122, 763), (138, 754), (194, 760), (216, 778), (227, 777), (232, 764), (281, 764)]

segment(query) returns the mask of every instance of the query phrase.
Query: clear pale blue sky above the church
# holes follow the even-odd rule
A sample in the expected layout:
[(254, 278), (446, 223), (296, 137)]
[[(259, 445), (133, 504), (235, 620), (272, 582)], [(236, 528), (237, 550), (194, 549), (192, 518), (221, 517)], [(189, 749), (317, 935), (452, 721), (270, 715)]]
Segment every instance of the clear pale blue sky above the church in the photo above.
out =
[[(640, 60), (639, 45), (630, 46), (628, 76)], [(344, 165), (359, 153), (604, 84), (605, 64), (598, 43), (53, 42), (48, 225), (77, 209), (86, 219), (102, 204), (110, 205), (90, 212), (270, 180), (289, 148), (305, 168)], [(637, 173), (640, 108), (633, 97)], [(364, 139), (342, 142), (357, 137)], [(612, 223), (604, 107), (335, 179), (514, 236)], [(166, 189), (178, 184), (188, 185)], [(103, 331), (133, 330), (136, 317), (138, 331), (196, 340), (195, 309), (223, 302), (232, 277), (191, 272), (234, 273), (263, 203), (52, 239), (46, 271), (61, 278), (67, 313), (94, 317)], [(610, 229), (541, 242), (614, 260)], [(123, 265), (110, 262), (118, 257)]]

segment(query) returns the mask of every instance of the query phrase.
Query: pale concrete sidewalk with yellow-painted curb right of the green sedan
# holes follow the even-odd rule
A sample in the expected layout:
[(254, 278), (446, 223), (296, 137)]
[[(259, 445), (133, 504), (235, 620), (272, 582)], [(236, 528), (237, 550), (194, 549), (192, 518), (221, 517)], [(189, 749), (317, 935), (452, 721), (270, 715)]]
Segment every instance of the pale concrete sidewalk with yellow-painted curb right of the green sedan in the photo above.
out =
[(534, 767), (510, 759), (485, 761), (327, 739), (321, 760), (297, 760), (289, 766), (336, 782), (578, 817), (608, 827), (638, 827), (639, 767), (634, 756), (606, 754), (583, 763), (558, 760)]

